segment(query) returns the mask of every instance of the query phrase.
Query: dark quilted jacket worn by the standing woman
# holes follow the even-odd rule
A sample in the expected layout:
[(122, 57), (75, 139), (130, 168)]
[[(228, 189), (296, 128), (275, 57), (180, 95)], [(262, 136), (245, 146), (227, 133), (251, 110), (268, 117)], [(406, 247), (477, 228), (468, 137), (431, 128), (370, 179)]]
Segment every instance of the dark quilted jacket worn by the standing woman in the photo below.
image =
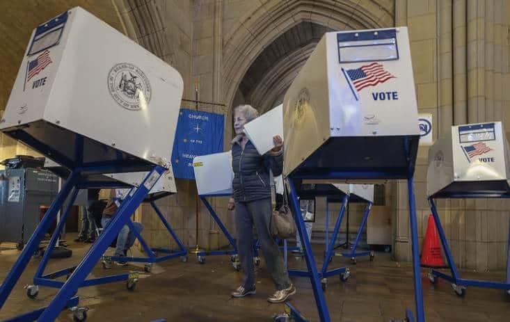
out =
[(269, 170), (273, 171), (274, 176), (281, 175), (283, 170), (282, 151), (277, 156), (272, 156), (271, 152), (260, 155), (249, 140), (244, 151), (236, 139), (232, 143), (234, 200), (248, 202), (271, 198)]

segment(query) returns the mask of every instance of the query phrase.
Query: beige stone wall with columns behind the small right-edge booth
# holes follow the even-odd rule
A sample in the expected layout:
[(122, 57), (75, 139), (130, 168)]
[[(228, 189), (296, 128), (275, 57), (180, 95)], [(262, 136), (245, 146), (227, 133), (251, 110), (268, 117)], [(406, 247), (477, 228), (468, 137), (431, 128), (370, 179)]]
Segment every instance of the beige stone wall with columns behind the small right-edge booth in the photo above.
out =
[[(507, 1), (396, 1), (396, 25), (408, 26), (420, 113), (432, 113), (434, 139), (452, 124), (504, 120), (509, 109)], [(509, 131), (507, 122), (507, 131)], [(430, 214), (426, 200), (428, 147), (415, 170), (420, 249)], [(411, 260), (405, 182), (395, 185), (395, 259)], [(461, 268), (504, 268), (510, 203), (440, 200), (452, 253)]]

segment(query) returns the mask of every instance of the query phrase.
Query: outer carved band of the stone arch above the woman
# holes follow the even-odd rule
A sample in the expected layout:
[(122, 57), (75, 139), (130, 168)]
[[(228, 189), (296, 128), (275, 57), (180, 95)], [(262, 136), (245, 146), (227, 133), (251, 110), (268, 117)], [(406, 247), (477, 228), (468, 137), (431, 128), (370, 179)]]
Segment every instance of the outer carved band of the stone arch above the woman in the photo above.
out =
[(394, 26), (391, 0), (267, 1), (247, 12), (223, 38), (225, 103), (230, 106), (241, 79), (255, 58), (279, 35), (308, 21), (335, 30)]

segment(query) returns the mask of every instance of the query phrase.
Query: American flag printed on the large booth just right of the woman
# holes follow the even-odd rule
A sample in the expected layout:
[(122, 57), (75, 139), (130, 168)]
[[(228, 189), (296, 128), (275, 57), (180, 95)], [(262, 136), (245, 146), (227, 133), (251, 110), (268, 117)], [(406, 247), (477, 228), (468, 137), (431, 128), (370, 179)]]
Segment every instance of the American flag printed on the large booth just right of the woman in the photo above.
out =
[(353, 70), (346, 70), (346, 74), (358, 92), (365, 87), (376, 86), (397, 78), (386, 71), (381, 63), (370, 63)]

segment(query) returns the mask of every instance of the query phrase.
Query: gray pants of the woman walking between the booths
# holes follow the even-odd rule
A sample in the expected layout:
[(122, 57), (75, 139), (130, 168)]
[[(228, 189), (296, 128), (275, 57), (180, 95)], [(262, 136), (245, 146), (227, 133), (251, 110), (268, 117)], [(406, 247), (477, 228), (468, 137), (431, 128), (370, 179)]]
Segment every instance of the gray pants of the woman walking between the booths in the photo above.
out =
[(253, 271), (253, 225), (257, 230), (269, 275), (277, 290), (290, 286), (289, 274), (283, 264), (278, 244), (271, 236), (271, 198), (250, 202), (236, 202), (235, 220), (237, 225), (237, 250), (244, 271), (243, 286), (251, 289), (255, 284)]

